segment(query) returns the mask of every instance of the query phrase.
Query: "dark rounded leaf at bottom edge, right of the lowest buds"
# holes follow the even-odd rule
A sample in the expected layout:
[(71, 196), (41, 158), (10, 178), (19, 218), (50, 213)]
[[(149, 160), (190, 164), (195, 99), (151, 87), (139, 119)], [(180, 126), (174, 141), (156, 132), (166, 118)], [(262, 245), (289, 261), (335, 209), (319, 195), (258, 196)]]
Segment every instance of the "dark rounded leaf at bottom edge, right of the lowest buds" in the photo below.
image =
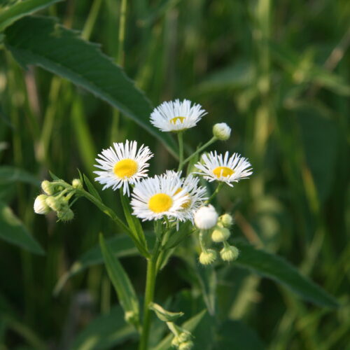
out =
[(219, 328), (214, 349), (264, 350), (265, 346), (247, 325), (240, 321), (228, 321)]

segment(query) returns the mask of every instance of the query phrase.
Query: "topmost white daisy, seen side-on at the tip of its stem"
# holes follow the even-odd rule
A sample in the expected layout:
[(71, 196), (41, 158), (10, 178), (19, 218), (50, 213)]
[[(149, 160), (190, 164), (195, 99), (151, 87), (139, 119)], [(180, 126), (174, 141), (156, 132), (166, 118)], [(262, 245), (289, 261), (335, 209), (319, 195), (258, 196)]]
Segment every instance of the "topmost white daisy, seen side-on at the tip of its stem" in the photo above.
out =
[(163, 132), (179, 132), (195, 127), (207, 114), (200, 104), (193, 104), (188, 99), (163, 102), (151, 113), (151, 123)]

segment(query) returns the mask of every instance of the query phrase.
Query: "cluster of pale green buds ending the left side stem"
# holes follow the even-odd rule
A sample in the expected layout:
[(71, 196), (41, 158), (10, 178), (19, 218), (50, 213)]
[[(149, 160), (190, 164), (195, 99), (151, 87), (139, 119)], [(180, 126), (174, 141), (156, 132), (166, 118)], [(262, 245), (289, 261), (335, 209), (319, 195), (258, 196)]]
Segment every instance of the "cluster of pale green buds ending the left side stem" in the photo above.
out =
[(34, 211), (36, 214), (48, 214), (56, 211), (60, 221), (71, 221), (74, 217), (70, 209), (69, 200), (77, 189), (83, 188), (83, 183), (79, 179), (74, 179), (69, 185), (64, 181), (48, 181), (41, 183), (44, 194), (38, 195), (34, 201)]

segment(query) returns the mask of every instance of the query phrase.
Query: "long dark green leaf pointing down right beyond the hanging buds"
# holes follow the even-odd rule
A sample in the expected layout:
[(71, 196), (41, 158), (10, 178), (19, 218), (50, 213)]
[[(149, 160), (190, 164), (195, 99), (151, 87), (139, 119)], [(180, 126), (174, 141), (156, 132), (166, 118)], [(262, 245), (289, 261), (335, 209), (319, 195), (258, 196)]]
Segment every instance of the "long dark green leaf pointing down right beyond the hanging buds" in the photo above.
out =
[(313, 302), (323, 307), (338, 307), (339, 304), (334, 297), (329, 295), (321, 287), (290, 265), (283, 258), (258, 250), (249, 244), (237, 242), (239, 248), (239, 258), (235, 265), (251, 269), (253, 272), (265, 276), (269, 279), (281, 283), (286, 288), (300, 295), (304, 300)]

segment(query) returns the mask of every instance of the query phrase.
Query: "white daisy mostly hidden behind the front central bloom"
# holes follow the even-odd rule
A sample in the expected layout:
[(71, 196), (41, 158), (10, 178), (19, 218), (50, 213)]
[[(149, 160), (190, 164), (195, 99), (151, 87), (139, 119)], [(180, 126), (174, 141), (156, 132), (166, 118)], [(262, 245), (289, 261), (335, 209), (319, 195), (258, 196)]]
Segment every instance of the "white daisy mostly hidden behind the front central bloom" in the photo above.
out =
[(208, 199), (208, 197), (206, 197), (206, 188), (198, 186), (200, 179), (193, 176), (193, 174), (189, 174), (186, 178), (181, 178), (181, 172), (174, 172), (172, 170), (168, 170), (166, 174), (167, 176), (174, 176), (181, 181), (181, 185), (177, 191), (185, 190), (188, 197), (188, 200), (181, 206), (181, 218), (183, 220), (190, 220), (193, 223), (195, 211), (199, 207), (202, 207), (204, 202)]

